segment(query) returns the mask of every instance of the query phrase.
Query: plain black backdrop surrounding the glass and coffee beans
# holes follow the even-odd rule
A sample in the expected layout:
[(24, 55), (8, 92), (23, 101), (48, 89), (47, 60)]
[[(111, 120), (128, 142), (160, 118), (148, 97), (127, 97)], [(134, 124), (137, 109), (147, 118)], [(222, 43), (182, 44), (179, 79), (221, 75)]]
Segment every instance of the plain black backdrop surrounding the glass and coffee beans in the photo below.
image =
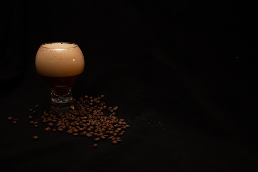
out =
[[(257, 170), (256, 21), (236, 2), (1, 2), (1, 171)], [(47, 42), (79, 45), (73, 97), (118, 106), (122, 143), (28, 124), (50, 106), (34, 66)]]

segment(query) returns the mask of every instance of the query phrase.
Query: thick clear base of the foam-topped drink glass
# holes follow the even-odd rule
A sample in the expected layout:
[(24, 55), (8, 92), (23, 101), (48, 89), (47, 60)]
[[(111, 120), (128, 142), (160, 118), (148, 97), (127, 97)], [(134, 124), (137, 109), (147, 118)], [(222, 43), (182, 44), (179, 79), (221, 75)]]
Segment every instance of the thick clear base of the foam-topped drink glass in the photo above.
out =
[(51, 89), (51, 109), (59, 112), (68, 112), (70, 109), (74, 109), (71, 89), (66, 95), (56, 95), (55, 91)]

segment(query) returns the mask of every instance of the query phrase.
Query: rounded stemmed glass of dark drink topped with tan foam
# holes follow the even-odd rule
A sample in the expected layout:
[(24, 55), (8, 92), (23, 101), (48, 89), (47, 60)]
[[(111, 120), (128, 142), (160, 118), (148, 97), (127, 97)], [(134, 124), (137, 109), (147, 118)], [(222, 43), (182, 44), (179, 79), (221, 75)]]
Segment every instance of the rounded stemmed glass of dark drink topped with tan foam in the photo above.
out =
[(77, 44), (42, 44), (36, 53), (36, 71), (51, 87), (51, 109), (73, 108), (71, 86), (84, 71), (84, 56)]

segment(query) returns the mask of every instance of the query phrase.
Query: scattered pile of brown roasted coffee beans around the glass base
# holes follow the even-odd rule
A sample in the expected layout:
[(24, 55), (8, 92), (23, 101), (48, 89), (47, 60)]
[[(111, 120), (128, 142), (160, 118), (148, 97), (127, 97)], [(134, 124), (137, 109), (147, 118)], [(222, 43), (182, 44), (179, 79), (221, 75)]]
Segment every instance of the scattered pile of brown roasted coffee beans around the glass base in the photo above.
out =
[[(45, 131), (66, 132), (72, 136), (93, 137), (95, 142), (110, 140), (113, 144), (122, 142), (121, 136), (130, 127), (124, 119), (116, 117), (118, 107), (107, 107), (102, 101), (104, 95), (97, 98), (84, 96), (78, 100), (73, 99), (75, 106), (73, 110), (62, 113), (58, 111), (45, 111), (41, 116), (42, 122), (47, 124)], [(36, 105), (35, 108), (39, 107)], [(29, 109), (35, 114), (36, 111)], [(28, 117), (32, 119), (32, 115)], [(12, 119), (9, 119), (12, 120)], [(31, 120), (29, 124), (39, 128), (39, 122)], [(33, 139), (38, 140), (39, 136), (34, 135)], [(98, 145), (94, 144), (93, 148)]]

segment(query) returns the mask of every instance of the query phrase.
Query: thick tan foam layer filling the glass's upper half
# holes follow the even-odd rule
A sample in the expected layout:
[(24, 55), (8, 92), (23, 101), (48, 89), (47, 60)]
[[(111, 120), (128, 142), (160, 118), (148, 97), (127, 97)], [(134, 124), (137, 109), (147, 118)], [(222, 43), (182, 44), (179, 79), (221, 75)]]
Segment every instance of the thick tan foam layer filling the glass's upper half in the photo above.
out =
[(43, 44), (36, 53), (35, 65), (40, 75), (69, 77), (83, 72), (84, 56), (76, 44)]

